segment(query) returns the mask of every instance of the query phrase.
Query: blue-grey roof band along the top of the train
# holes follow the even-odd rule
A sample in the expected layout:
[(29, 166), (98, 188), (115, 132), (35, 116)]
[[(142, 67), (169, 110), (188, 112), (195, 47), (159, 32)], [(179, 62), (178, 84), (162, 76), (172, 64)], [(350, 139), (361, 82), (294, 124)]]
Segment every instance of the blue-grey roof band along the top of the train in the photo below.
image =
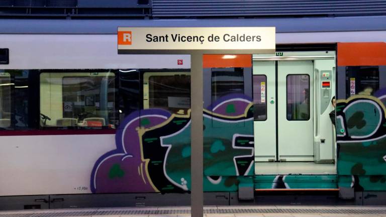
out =
[(118, 27), (276, 27), (276, 33), (385, 31), (386, 16), (251, 19), (2, 19), (0, 34), (117, 34)]

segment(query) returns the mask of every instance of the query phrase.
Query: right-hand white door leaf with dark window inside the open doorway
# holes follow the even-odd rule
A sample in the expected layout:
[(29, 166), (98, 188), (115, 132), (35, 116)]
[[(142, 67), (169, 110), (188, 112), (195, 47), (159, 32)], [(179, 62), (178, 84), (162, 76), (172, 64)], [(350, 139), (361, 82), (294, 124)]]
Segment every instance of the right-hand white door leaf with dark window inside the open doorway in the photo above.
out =
[(277, 61), (278, 161), (313, 161), (313, 62)]

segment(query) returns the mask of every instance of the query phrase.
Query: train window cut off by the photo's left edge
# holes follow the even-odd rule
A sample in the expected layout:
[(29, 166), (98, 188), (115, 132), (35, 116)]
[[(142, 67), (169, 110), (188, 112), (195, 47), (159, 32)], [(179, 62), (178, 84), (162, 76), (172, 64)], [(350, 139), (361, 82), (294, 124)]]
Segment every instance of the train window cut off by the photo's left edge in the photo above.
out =
[(0, 72), (0, 129), (11, 126), (11, 76)]

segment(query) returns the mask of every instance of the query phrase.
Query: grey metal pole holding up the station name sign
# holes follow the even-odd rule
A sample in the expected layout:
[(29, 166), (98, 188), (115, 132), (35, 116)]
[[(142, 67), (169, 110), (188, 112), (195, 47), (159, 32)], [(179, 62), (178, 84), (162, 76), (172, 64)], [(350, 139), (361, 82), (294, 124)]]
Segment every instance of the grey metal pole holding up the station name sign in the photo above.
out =
[(191, 108), (191, 216), (202, 217), (204, 214), (204, 133), (203, 133), (203, 54), (190, 54), (190, 108)]

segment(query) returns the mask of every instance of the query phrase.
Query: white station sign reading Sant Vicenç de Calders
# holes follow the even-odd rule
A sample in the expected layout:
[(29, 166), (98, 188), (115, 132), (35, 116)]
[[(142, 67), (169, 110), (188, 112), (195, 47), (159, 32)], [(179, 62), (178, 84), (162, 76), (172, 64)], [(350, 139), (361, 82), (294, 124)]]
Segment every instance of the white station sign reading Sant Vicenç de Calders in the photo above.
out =
[(274, 27), (118, 28), (118, 50), (274, 49)]

